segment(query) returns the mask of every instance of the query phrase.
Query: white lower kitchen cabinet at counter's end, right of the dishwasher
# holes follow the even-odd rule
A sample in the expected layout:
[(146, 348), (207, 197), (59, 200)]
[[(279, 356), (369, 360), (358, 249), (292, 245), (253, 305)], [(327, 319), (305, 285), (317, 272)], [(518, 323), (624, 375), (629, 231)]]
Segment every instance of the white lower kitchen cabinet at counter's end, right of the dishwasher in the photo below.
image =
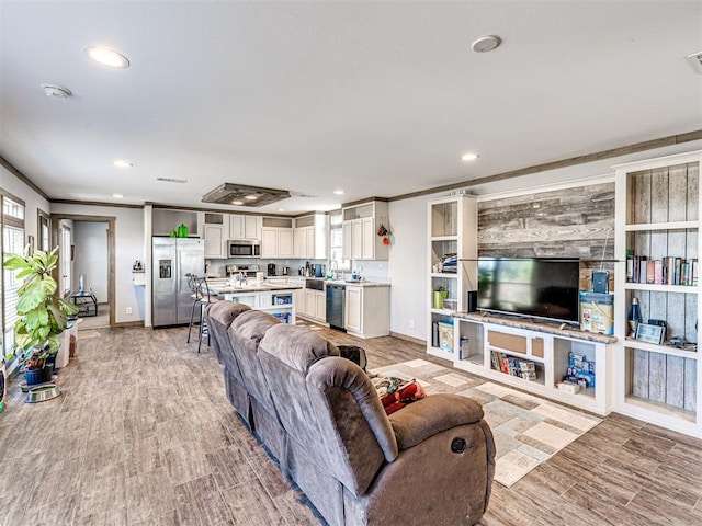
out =
[(344, 329), (359, 338), (380, 338), (390, 333), (389, 286), (347, 285)]

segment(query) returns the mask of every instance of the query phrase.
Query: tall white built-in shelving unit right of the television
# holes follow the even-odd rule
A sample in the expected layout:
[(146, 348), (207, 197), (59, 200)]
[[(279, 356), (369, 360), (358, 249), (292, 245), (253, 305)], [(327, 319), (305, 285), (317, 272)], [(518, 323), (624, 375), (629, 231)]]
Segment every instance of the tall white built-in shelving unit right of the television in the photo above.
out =
[[(700, 256), (699, 169), (702, 152), (614, 167), (616, 259), (627, 253), (649, 261)], [(702, 436), (702, 365), (697, 348), (700, 285), (632, 283), (626, 263), (615, 273), (616, 353), (614, 409), (664, 427)], [(638, 279), (641, 282), (642, 278)], [(660, 282), (659, 277), (653, 282)], [(644, 322), (663, 320), (661, 344), (635, 339), (626, 321), (637, 298)], [(680, 341), (680, 345), (672, 345)]]

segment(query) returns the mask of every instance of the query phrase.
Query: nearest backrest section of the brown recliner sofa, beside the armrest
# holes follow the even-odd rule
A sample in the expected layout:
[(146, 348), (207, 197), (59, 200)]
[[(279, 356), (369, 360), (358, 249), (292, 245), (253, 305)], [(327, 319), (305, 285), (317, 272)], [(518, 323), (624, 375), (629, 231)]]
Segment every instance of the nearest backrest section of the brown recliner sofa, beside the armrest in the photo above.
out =
[(349, 491), (363, 494), (383, 464), (398, 455), (367, 375), (303, 327), (269, 329), (259, 358), (290, 438)]

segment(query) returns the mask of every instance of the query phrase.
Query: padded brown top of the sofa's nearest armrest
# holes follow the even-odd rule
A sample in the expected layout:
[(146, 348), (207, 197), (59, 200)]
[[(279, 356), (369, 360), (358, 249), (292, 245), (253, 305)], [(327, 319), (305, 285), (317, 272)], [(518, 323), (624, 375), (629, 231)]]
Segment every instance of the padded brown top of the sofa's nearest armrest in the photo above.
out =
[(441, 393), (410, 403), (388, 418), (401, 451), (443, 431), (479, 422), (483, 408), (469, 398)]

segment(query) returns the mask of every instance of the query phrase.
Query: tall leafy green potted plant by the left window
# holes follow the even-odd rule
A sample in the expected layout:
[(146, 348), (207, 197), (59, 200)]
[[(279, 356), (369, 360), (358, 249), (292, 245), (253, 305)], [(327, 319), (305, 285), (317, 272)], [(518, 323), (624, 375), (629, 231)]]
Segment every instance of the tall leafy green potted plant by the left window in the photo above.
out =
[(27, 245), (24, 254), (7, 254), (4, 260), (4, 267), (24, 279), (18, 290), (14, 351), (24, 364), (27, 385), (52, 379), (53, 368), (46, 367), (46, 361), (58, 353), (58, 335), (66, 330), (68, 317), (78, 312), (75, 305), (56, 294), (58, 285), (52, 272), (58, 262), (57, 252), (58, 247), (50, 253), (30, 252)]

